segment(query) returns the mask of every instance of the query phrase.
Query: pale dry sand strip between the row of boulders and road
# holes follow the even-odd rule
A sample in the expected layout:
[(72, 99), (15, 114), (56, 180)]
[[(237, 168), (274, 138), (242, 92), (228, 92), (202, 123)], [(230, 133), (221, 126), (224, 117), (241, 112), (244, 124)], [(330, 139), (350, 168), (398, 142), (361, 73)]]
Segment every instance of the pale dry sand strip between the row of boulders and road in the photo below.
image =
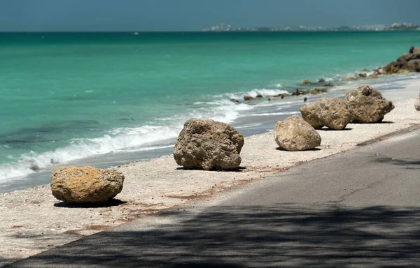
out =
[(222, 191), (258, 183), (293, 165), (354, 149), (375, 137), (418, 128), (420, 112), (414, 109), (414, 101), (419, 91), (420, 80), (413, 80), (405, 89), (387, 91), (384, 96), (394, 102), (395, 110), (386, 115), (384, 123), (318, 131), (322, 137), (319, 150), (278, 150), (272, 132), (246, 137), (239, 172), (183, 170), (172, 156), (116, 167), (125, 174), (125, 184), (119, 201), (111, 207), (66, 206), (51, 195), (49, 185), (2, 194), (0, 266), (146, 214), (210, 200)]

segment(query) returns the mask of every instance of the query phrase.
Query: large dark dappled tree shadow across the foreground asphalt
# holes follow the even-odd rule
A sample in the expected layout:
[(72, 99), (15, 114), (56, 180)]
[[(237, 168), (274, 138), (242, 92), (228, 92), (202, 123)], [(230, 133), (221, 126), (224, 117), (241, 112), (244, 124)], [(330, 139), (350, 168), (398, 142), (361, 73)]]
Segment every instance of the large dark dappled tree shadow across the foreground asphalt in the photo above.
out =
[[(34, 257), (39, 267), (409, 267), (420, 260), (420, 208), (214, 207), (176, 224), (102, 232)], [(48, 266), (49, 265), (49, 266)], [(19, 262), (15, 267), (37, 267)]]

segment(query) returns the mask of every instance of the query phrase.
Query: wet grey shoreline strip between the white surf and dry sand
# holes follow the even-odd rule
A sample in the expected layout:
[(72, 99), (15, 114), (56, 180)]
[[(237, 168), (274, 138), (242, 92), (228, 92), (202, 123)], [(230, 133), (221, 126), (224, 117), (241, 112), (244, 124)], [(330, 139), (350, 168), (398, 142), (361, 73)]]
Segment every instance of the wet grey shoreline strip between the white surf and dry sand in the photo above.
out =
[[(375, 89), (378, 89), (383, 94), (387, 94), (388, 91), (399, 91), (400, 89), (407, 87), (407, 85), (419, 79), (420, 76), (416, 73), (410, 73), (407, 75), (383, 75), (379, 77), (379, 79), (358, 78), (351, 82), (338, 82), (338, 84), (335, 84), (335, 87), (331, 87), (329, 91), (324, 94), (304, 94), (300, 96), (289, 96), (288, 98), (284, 98), (284, 100), (280, 98), (273, 98), (272, 101), (268, 102), (265, 100), (265, 98), (256, 98), (251, 102), (241, 101), (242, 104), (248, 105), (250, 108), (247, 110), (242, 110), (241, 114), (235, 119), (235, 121), (228, 124), (235, 127), (242, 135), (244, 135), (244, 137), (261, 134), (272, 129), (272, 126), (274, 126), (277, 121), (286, 119), (288, 116), (293, 114), (300, 114), (299, 108), (303, 105), (303, 98), (307, 98), (308, 102), (311, 102), (316, 101), (317, 98), (324, 96), (344, 97), (346, 91), (359, 87), (363, 84), (371, 84)], [(325, 82), (300, 84), (300, 88), (302, 88), (303, 91), (310, 91), (314, 87), (320, 87), (321, 84), (325, 84)], [(299, 85), (296, 87), (298, 86)], [(253, 94), (256, 93), (257, 91), (253, 92)], [(231, 105), (235, 104), (231, 103)], [(182, 127), (180, 125), (179, 131), (181, 131), (181, 128)], [(173, 137), (151, 144), (151, 147), (155, 147), (155, 149), (139, 149), (139, 151), (133, 150), (128, 152), (116, 151), (106, 154), (88, 156), (86, 158), (80, 158), (61, 164), (58, 163), (57, 165), (50, 165), (46, 168), (36, 170), (36, 172), (31, 174), (27, 174), (24, 177), (3, 179), (0, 181), (0, 194), (10, 193), (12, 191), (21, 191), (25, 190), (26, 188), (48, 184), (50, 182), (50, 172), (52, 172), (52, 170), (55, 168), (62, 166), (91, 165), (95, 168), (110, 168), (116, 165), (124, 165), (125, 163), (150, 161), (160, 156), (172, 154), (173, 145), (175, 142), (176, 137)]]

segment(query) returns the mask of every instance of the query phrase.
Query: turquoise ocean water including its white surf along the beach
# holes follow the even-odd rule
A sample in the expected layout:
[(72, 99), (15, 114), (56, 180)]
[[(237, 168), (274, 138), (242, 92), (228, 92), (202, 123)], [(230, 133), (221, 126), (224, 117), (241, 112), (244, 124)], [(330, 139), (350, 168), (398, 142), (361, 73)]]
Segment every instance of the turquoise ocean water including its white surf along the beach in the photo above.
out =
[[(301, 98), (229, 99), (320, 87), (302, 85), (320, 77), (339, 85), (329, 93), (339, 96), (356, 83), (344, 77), (410, 45), (420, 46), (420, 31), (0, 33), (0, 184), (31, 185), (35, 174), (74, 161), (170, 153), (190, 117), (245, 135), (267, 131), (297, 113)], [(374, 82), (392, 89), (400, 79)]]

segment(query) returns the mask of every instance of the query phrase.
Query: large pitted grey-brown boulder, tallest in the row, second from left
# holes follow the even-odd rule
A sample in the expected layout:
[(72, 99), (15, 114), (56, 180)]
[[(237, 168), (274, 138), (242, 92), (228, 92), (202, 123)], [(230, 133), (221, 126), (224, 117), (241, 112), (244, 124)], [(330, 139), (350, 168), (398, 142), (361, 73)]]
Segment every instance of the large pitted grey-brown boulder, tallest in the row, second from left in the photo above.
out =
[(174, 158), (186, 169), (235, 170), (241, 163), (244, 137), (232, 126), (189, 119), (175, 144)]

